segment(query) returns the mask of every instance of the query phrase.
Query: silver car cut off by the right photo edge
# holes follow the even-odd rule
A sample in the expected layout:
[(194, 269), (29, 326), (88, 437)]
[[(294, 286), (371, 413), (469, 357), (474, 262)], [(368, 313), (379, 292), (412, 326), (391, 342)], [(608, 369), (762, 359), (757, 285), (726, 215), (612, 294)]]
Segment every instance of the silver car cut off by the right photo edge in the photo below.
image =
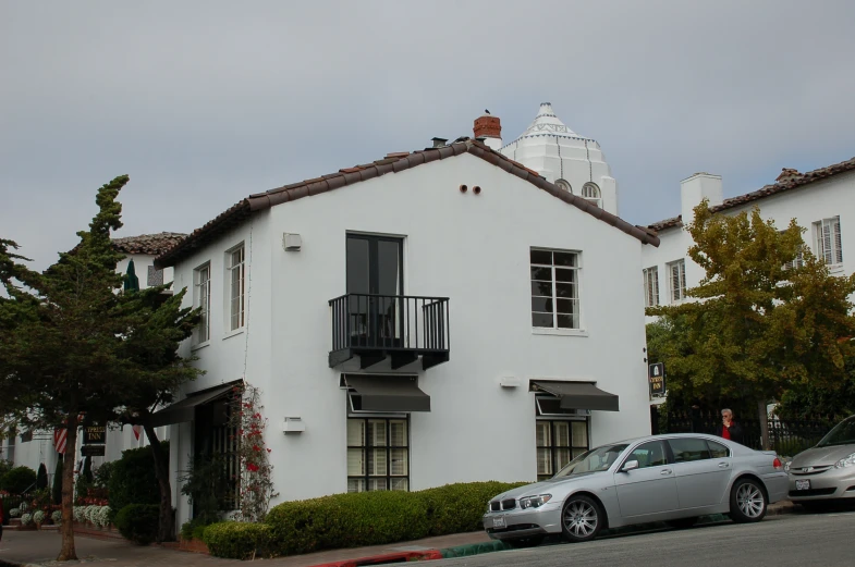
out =
[(822, 440), (786, 464), (790, 500), (810, 507), (829, 501), (855, 498), (855, 416), (850, 416)]

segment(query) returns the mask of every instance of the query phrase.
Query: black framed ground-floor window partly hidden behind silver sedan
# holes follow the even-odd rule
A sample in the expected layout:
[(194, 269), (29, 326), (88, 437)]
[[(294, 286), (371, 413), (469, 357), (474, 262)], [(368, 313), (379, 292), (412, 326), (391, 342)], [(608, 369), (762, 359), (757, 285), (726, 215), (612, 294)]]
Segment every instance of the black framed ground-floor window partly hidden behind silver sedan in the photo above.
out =
[(537, 480), (552, 478), (588, 451), (588, 419), (537, 420)]

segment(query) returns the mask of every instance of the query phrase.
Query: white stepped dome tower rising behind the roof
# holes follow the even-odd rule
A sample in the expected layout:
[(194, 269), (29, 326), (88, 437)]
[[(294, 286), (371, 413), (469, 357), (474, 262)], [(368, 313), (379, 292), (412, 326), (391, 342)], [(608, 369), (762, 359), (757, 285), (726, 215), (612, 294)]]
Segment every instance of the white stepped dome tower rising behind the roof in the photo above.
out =
[(596, 140), (579, 136), (543, 102), (534, 122), (503, 155), (538, 172), (559, 187), (618, 214), (618, 182)]

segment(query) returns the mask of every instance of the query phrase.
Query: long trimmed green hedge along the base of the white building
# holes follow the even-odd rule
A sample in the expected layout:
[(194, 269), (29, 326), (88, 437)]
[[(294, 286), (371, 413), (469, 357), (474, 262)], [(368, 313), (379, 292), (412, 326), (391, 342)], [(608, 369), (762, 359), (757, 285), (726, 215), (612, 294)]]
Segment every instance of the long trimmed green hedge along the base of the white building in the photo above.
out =
[(285, 502), (273, 507), (276, 555), (382, 545), (474, 531), (493, 496), (525, 483), (469, 482), (419, 492), (361, 492)]

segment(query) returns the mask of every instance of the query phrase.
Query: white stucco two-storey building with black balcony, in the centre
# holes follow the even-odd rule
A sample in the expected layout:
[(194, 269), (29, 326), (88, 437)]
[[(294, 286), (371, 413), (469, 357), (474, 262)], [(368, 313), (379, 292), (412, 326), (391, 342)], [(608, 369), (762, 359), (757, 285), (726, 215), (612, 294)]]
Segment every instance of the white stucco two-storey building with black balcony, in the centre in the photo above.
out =
[(206, 373), (158, 414), (173, 474), (228, 446), (242, 380), (279, 501), (535, 480), (649, 433), (638, 273), (657, 237), (444, 141), (251, 195), (157, 259), (205, 313), (182, 354)]

